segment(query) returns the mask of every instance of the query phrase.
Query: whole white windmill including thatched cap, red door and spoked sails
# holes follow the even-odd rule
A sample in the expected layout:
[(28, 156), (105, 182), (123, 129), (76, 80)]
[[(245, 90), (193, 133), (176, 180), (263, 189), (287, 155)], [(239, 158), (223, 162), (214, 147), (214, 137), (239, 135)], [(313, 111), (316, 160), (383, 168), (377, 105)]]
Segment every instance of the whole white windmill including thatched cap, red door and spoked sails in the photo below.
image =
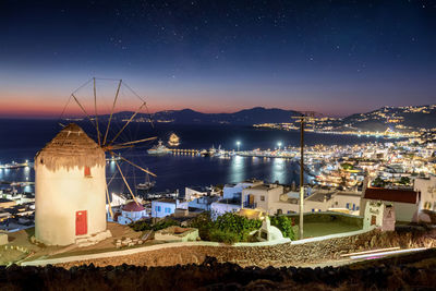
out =
[[(113, 214), (106, 180), (106, 153), (117, 157), (121, 162), (126, 162), (131, 167), (156, 177), (153, 172), (116, 153), (116, 150), (132, 148), (140, 143), (156, 140), (156, 137), (148, 137), (121, 144), (116, 143), (136, 114), (144, 107), (146, 108), (145, 100), (124, 84), (126, 89), (141, 100), (141, 106), (125, 122), (122, 120), (124, 122), (122, 126), (118, 124), (121, 129), (116, 134), (109, 134), (122, 81), (120, 80), (118, 83), (109, 119), (100, 123), (97, 110), (96, 80), (93, 77), (74, 90), (65, 105), (66, 108), (70, 100), (74, 99), (95, 128), (96, 141), (90, 138), (77, 124), (71, 123), (66, 126), (61, 124), (64, 128), (35, 157), (35, 238), (47, 245), (77, 243), (85, 246), (110, 237), (106, 222), (107, 202), (112, 217)], [(85, 109), (86, 106), (81, 104), (75, 96), (90, 82), (94, 84), (93, 109), (95, 116), (93, 118), (88, 113), (90, 111)], [(102, 125), (106, 126), (106, 130), (100, 132), (99, 129)], [(114, 163), (133, 199), (140, 205), (119, 162), (116, 160)]]

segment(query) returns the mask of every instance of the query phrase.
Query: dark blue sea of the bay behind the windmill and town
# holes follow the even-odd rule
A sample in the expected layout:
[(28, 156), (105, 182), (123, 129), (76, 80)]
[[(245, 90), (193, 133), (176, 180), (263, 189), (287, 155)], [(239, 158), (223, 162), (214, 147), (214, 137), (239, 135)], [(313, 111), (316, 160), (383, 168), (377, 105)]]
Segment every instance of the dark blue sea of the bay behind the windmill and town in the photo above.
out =
[[(97, 131), (90, 122), (77, 123), (97, 140)], [(65, 124), (59, 120), (9, 120), (0, 119), (0, 165), (33, 161), (38, 150), (44, 148)], [(108, 130), (107, 141), (111, 141), (123, 128), (124, 122), (112, 122)], [(99, 125), (104, 136), (106, 124)], [(201, 157), (196, 155), (165, 155), (150, 156), (147, 149), (157, 143), (158, 140), (168, 141), (171, 133), (180, 137), (181, 144), (178, 148), (184, 149), (208, 149), (219, 146), (227, 150), (237, 149), (237, 142), (240, 142), (240, 150), (254, 148), (274, 149), (280, 142), (282, 147), (299, 146), (299, 131), (279, 131), (258, 129), (247, 125), (229, 124), (172, 124), (172, 123), (143, 123), (132, 122), (117, 137), (114, 144), (129, 143), (146, 137), (156, 137), (155, 141), (135, 144), (120, 150), (120, 155), (134, 163), (148, 169), (156, 174), (156, 178), (148, 177), (156, 182), (154, 192), (174, 192), (181, 195), (187, 187), (204, 187), (208, 185), (223, 185), (238, 183), (246, 179), (255, 178), (266, 182), (299, 184), (299, 165), (296, 161), (282, 158), (254, 158), (233, 156), (231, 158)], [(382, 142), (383, 138), (367, 136), (350, 136), (319, 134), (307, 132), (305, 134), (306, 145), (353, 145), (367, 142)], [(144, 172), (132, 167), (128, 162), (120, 161), (123, 175), (129, 181), (133, 191), (135, 185), (144, 182), (147, 177)], [(129, 193), (122, 181), (114, 162), (107, 162), (107, 180), (109, 191), (113, 193)], [(34, 169), (0, 169), (0, 182), (24, 182), (34, 181)], [(308, 178), (306, 178), (308, 179)], [(2, 185), (8, 186), (5, 184)], [(22, 191), (32, 192), (33, 186), (26, 186)], [(144, 194), (144, 193), (135, 193)]]

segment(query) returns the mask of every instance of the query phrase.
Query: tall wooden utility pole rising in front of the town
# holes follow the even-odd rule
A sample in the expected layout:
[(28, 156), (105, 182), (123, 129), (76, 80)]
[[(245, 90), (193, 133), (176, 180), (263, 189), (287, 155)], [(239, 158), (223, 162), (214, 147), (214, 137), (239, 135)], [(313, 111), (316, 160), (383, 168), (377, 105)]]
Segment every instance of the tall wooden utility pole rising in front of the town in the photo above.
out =
[(300, 226), (299, 226), (299, 237), (302, 240), (304, 237), (303, 231), (303, 214), (304, 214), (304, 124), (307, 120), (313, 120), (317, 114), (314, 111), (301, 112), (301, 117), (293, 117), (300, 120)]

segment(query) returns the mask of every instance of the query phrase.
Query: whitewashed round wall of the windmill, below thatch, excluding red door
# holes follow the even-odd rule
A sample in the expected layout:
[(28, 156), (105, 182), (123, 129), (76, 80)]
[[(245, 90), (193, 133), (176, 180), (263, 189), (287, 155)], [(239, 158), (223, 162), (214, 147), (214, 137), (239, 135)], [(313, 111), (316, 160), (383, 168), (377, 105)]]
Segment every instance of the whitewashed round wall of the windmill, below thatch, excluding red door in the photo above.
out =
[(105, 166), (48, 170), (35, 166), (35, 235), (48, 245), (75, 243), (76, 211), (87, 213), (87, 234), (106, 230)]

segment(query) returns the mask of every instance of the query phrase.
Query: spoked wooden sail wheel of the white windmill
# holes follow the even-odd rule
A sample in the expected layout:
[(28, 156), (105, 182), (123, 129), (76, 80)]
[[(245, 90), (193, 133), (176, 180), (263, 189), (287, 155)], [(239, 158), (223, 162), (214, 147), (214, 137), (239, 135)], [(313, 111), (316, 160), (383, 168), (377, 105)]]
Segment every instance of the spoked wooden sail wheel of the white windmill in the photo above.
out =
[[(109, 90), (108, 95), (110, 96), (109, 97), (110, 102), (107, 102), (107, 105), (109, 104), (109, 106), (106, 107), (106, 110), (105, 108), (104, 109), (99, 108), (100, 106), (102, 106), (104, 104), (102, 101), (105, 98), (99, 98), (97, 94), (98, 92), (100, 92), (99, 87), (97, 87), (97, 82), (98, 83), (109, 82), (117, 84), (116, 89), (112, 90), (112, 95), (110, 94)], [(87, 94), (86, 90), (88, 90)], [(107, 92), (107, 88), (101, 89), (102, 93), (105, 93), (105, 90)], [(120, 110), (126, 110), (130, 108), (132, 104), (130, 100), (129, 101), (120, 100), (121, 97), (126, 96), (125, 93), (129, 93), (130, 97), (133, 97), (136, 100), (136, 102), (138, 102), (138, 105), (135, 107), (134, 111), (123, 111), (124, 117), (122, 118), (121, 121), (114, 120), (116, 114), (119, 113), (117, 112), (118, 108), (120, 108)], [(66, 118), (65, 112), (68, 111), (68, 109), (71, 109), (71, 104), (76, 106), (75, 109), (73, 108), (72, 110), (74, 118)], [(111, 160), (116, 163), (118, 173), (121, 175), (123, 183), (125, 184), (126, 189), (129, 190), (129, 193), (132, 195), (134, 202), (137, 205), (140, 205), (140, 203), (135, 194), (133, 193), (132, 187), (129, 185), (126, 175), (123, 173), (119, 161), (125, 162), (126, 165), (133, 167), (134, 169), (138, 169), (142, 172), (156, 177), (155, 173), (150, 172), (148, 169), (141, 167), (136, 162), (126, 159), (120, 153), (123, 149), (130, 149), (135, 146), (138, 146), (140, 144), (144, 144), (146, 142), (156, 140), (156, 137), (145, 137), (140, 140), (125, 138), (124, 134), (125, 131), (129, 129), (129, 125), (135, 121), (135, 118), (138, 117), (140, 113), (147, 113), (149, 117), (147, 104), (125, 82), (123, 82), (122, 80), (92, 77), (82, 86), (80, 86), (78, 88), (76, 88), (74, 92), (71, 93), (62, 110), (62, 113), (59, 118), (60, 120), (88, 121), (88, 124), (90, 124), (90, 130), (88, 130), (89, 136), (94, 137), (98, 146), (105, 153), (107, 153), (112, 157)], [(143, 118), (143, 114), (141, 114), (141, 118)], [(146, 121), (152, 122), (149, 118)], [(60, 125), (62, 128), (65, 126), (65, 124), (63, 123), (60, 123)], [(116, 126), (119, 126), (119, 129), (117, 131), (113, 131), (113, 128)], [(92, 132), (95, 132), (95, 134), (92, 134)], [(124, 135), (124, 142), (120, 143), (120, 138), (123, 135)], [(116, 173), (117, 171), (110, 179), (107, 179), (106, 181), (106, 198), (108, 201), (109, 213), (112, 218), (113, 218), (113, 213), (109, 198), (109, 184), (113, 181)]]

